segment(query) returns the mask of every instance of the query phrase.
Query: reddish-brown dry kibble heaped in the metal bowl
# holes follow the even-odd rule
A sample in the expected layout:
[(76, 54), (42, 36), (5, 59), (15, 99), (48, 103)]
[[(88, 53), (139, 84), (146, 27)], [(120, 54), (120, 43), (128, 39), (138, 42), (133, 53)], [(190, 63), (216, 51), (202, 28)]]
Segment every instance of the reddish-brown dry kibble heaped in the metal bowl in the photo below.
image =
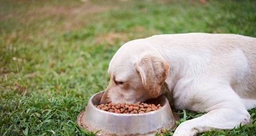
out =
[(107, 112), (113, 113), (122, 113), (122, 114), (137, 114), (137, 113), (147, 113), (151, 111), (156, 111), (157, 109), (162, 108), (160, 104), (147, 104), (147, 103), (136, 103), (136, 104), (100, 104), (95, 105), (98, 109)]

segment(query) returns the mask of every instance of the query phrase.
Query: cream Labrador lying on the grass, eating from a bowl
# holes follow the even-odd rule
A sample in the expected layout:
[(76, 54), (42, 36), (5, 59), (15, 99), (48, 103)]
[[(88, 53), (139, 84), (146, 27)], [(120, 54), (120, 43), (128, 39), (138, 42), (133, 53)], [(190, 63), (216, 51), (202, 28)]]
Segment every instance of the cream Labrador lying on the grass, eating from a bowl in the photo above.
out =
[(176, 109), (206, 112), (175, 136), (233, 129), (256, 105), (256, 38), (234, 34), (155, 35), (125, 43), (109, 63), (101, 103), (136, 103), (166, 95)]

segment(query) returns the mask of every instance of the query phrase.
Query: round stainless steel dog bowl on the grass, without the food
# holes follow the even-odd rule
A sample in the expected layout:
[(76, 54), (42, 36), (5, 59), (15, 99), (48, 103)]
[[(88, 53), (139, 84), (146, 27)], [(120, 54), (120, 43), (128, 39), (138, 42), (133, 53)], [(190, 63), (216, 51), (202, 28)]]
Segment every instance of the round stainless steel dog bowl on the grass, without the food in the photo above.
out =
[(87, 131), (98, 131), (97, 135), (155, 135), (161, 129), (174, 127), (175, 119), (165, 96), (147, 101), (161, 104), (157, 111), (141, 114), (111, 113), (97, 109), (104, 91), (88, 101), (86, 111), (78, 116), (78, 125)]

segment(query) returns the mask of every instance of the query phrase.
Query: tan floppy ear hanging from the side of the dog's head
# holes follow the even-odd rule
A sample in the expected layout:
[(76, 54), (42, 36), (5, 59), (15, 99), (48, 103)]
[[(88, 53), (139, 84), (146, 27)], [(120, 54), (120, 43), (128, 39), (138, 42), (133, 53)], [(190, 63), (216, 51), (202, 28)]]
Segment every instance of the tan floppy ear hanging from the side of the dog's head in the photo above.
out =
[(149, 95), (159, 96), (161, 86), (169, 73), (169, 63), (162, 58), (146, 55), (135, 63), (135, 69), (141, 76), (143, 86)]

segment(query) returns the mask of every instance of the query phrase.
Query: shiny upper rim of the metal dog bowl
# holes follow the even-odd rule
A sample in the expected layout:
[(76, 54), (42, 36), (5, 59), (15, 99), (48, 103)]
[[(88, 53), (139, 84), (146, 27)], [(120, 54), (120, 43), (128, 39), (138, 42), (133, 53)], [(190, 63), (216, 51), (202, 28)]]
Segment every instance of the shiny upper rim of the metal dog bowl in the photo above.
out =
[[(157, 112), (160, 112), (161, 110), (164, 110), (164, 108), (167, 107), (168, 104), (164, 104), (162, 105), (162, 108), (160, 109), (157, 109), (156, 111), (151, 111), (151, 112), (147, 112), (147, 113), (137, 113), (137, 114), (122, 114), (122, 113), (113, 113), (113, 112), (107, 112), (107, 111), (103, 111), (101, 109), (98, 109), (97, 107), (95, 107), (94, 104), (92, 104), (92, 99), (96, 96), (96, 95), (99, 95), (100, 93), (104, 93), (104, 91), (100, 91), (100, 92), (97, 92), (96, 94), (92, 95), (91, 98), (89, 99), (88, 101), (88, 104), (93, 108), (95, 109), (96, 111), (99, 111), (99, 112), (103, 112), (103, 113), (107, 113), (107, 114), (112, 114), (114, 116), (144, 116), (145, 114), (155, 114)], [(165, 103), (168, 103), (168, 100), (167, 98), (164, 96), (164, 95), (160, 95), (158, 97), (163, 97), (164, 100), (165, 100)], [(87, 106), (88, 106), (87, 104)]]

